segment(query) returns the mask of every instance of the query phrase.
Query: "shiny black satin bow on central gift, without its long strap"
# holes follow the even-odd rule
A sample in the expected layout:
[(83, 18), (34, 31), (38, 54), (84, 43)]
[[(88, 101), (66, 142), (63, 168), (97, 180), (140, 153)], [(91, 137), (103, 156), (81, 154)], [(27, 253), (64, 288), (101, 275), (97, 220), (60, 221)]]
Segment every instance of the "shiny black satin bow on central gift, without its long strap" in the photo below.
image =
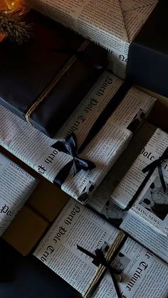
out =
[(92, 161), (82, 159), (78, 155), (77, 142), (74, 133), (68, 135), (68, 137), (65, 138), (65, 142), (58, 141), (51, 147), (72, 157), (72, 160), (63, 166), (63, 169), (58, 172), (54, 179), (54, 183), (60, 187), (68, 177), (71, 169), (73, 169), (73, 176), (75, 176), (80, 170), (91, 171), (95, 168), (95, 164)]

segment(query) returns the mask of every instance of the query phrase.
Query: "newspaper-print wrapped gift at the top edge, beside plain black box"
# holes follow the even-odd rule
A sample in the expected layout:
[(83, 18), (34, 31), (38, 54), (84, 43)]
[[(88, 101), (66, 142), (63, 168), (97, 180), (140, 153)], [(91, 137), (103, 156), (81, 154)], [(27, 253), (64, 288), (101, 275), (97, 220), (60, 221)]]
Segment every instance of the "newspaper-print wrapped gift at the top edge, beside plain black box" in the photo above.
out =
[(70, 27), (109, 52), (110, 69), (125, 78), (130, 43), (157, 0), (29, 0), (33, 9)]

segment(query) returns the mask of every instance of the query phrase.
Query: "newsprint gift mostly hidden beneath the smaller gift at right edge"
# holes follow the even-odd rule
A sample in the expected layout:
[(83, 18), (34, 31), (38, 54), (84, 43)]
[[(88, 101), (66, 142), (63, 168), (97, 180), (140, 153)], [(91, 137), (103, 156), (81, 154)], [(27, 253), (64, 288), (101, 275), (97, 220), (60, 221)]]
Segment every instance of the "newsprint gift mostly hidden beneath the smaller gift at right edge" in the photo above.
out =
[(124, 211), (117, 206), (111, 197), (117, 184), (122, 180), (122, 177), (127, 173), (135, 159), (137, 159), (138, 154), (156, 129), (157, 127), (147, 122), (142, 125), (125, 152), (115, 163), (115, 166), (112, 167), (97, 190), (90, 196), (88, 205), (102, 215), (103, 218), (110, 221), (112, 225), (120, 228), (145, 246), (145, 248), (148, 248), (162, 260), (168, 262), (167, 235), (159, 233), (152, 225), (148, 225), (143, 218), (137, 217), (135, 213), (132, 213), (131, 209)]

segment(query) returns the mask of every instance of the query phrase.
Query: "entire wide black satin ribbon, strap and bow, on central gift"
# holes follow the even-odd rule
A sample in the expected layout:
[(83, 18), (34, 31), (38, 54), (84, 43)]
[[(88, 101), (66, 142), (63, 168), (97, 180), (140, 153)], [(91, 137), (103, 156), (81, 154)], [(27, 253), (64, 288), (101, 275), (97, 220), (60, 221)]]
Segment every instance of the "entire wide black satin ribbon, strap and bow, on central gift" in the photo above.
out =
[(130, 87), (132, 87), (132, 84), (129, 81), (122, 83), (98, 119), (96, 119), (79, 149), (77, 148), (77, 142), (74, 133), (66, 137), (65, 142), (58, 141), (51, 146), (58, 151), (72, 156), (73, 158), (72, 161), (69, 161), (68, 164), (63, 166), (63, 169), (58, 172), (55, 179), (53, 180), (53, 183), (61, 187), (65, 179), (68, 177), (71, 169), (73, 169), (73, 176), (75, 176), (82, 169), (84, 171), (91, 171), (95, 168), (95, 164), (92, 161), (81, 159), (79, 154), (85, 149), (85, 147), (88, 146), (93, 137), (95, 137), (107, 119), (112, 115), (112, 112), (114, 112), (118, 105), (120, 105), (120, 102), (122, 102), (122, 99), (125, 97)]

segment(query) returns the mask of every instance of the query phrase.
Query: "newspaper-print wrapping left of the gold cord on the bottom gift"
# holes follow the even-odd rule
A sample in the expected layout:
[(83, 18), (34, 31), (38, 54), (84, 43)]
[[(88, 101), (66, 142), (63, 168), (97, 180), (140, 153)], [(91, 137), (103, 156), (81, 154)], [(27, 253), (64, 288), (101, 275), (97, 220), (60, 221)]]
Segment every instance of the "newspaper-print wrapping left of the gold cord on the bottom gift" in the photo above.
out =
[(107, 258), (109, 250), (114, 253), (123, 238), (124, 233), (107, 220), (69, 200), (33, 255), (87, 297), (94, 280), (105, 268), (95, 265), (77, 245), (93, 253), (101, 249)]

